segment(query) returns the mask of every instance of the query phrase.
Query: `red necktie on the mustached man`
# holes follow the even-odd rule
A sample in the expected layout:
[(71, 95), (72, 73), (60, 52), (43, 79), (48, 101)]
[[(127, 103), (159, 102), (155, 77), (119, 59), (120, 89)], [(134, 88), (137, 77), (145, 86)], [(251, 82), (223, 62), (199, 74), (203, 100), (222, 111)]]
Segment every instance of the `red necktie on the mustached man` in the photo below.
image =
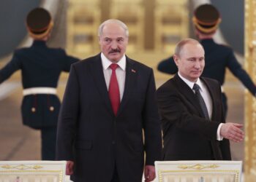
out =
[(117, 114), (117, 111), (120, 105), (120, 93), (119, 93), (119, 87), (118, 87), (118, 82), (116, 78), (117, 67), (118, 67), (118, 64), (110, 65), (110, 68), (112, 69), (112, 74), (111, 74), (110, 84), (108, 88), (108, 95), (109, 95), (110, 102), (115, 115)]

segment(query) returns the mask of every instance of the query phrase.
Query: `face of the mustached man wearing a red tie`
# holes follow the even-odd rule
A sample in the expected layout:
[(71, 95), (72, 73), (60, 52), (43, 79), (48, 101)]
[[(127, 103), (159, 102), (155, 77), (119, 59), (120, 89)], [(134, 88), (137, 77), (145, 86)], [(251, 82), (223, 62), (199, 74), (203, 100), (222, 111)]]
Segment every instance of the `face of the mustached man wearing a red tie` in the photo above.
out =
[(105, 57), (116, 63), (127, 49), (128, 37), (121, 25), (108, 23), (104, 26), (102, 35), (99, 36), (99, 44)]

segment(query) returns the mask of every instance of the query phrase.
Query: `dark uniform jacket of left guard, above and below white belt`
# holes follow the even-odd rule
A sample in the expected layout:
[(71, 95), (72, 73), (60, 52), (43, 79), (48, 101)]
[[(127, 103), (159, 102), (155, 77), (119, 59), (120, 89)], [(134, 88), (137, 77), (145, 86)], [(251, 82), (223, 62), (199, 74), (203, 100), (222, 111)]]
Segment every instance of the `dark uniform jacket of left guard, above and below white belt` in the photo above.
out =
[[(34, 41), (31, 47), (14, 52), (12, 60), (0, 70), (0, 83), (20, 69), (24, 89), (56, 88), (61, 71), (69, 71), (76, 61), (62, 49), (49, 48), (45, 41)], [(34, 128), (56, 126), (59, 107), (56, 95), (26, 95), (21, 106), (23, 124)]]

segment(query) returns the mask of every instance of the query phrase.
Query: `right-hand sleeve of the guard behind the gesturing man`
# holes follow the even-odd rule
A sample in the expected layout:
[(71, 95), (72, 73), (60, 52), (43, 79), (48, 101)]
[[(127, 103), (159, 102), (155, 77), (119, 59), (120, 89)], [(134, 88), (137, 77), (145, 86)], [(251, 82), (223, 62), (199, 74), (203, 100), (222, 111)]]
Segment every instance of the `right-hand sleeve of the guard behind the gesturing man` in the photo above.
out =
[(236, 57), (233, 51), (230, 50), (230, 54), (227, 58), (227, 66), (230, 71), (244, 84), (244, 86), (252, 93), (252, 95), (256, 96), (256, 86), (252, 82), (250, 76), (246, 73), (246, 71), (241, 67), (236, 60)]

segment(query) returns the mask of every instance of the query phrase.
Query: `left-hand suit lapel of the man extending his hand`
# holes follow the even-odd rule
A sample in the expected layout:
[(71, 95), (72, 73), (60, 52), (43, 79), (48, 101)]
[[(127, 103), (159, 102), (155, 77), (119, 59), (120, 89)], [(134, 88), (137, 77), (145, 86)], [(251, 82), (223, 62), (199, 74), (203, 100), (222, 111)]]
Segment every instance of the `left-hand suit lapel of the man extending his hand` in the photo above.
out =
[(198, 100), (195, 97), (195, 93), (192, 91), (192, 89), (178, 76), (178, 74), (176, 74), (173, 79), (176, 81), (176, 85), (181, 94), (187, 98), (189, 103), (192, 103), (192, 105), (195, 106), (200, 116), (203, 117), (203, 111), (200, 108), (200, 104), (198, 103)]

